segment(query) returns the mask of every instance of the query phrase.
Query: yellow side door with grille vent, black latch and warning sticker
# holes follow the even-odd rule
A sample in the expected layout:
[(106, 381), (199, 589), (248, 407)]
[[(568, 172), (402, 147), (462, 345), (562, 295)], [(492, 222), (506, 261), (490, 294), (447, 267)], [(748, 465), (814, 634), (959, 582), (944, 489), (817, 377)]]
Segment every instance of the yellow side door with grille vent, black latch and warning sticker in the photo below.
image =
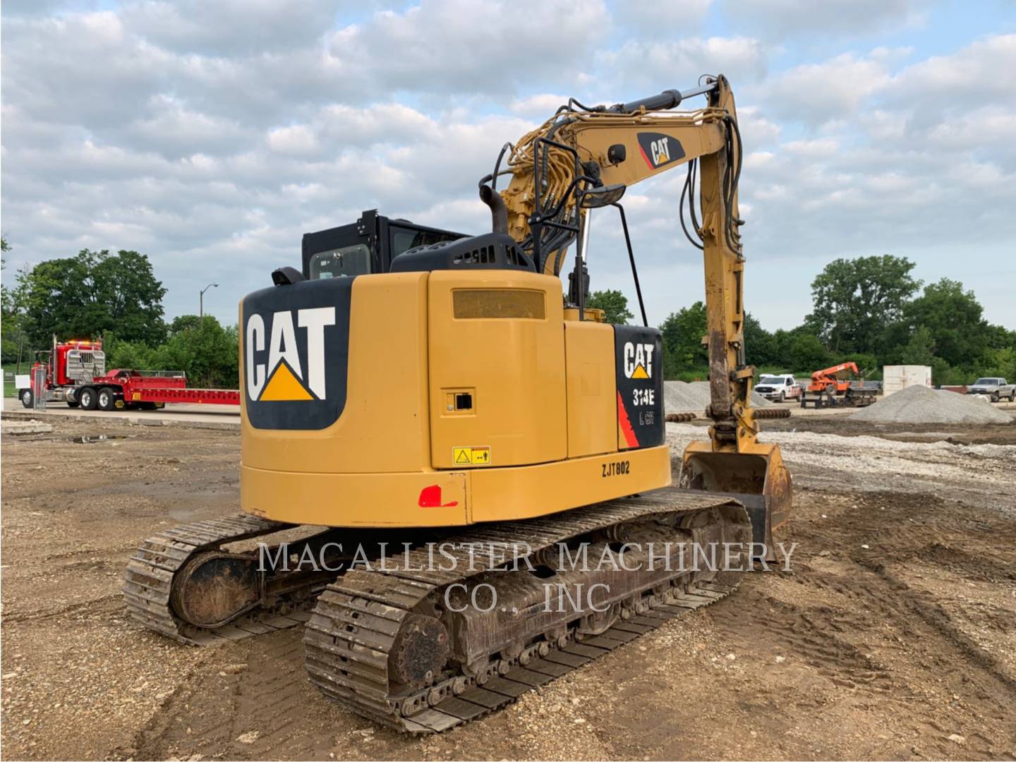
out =
[(434, 467), (564, 460), (561, 281), (506, 270), (436, 270), (428, 302)]

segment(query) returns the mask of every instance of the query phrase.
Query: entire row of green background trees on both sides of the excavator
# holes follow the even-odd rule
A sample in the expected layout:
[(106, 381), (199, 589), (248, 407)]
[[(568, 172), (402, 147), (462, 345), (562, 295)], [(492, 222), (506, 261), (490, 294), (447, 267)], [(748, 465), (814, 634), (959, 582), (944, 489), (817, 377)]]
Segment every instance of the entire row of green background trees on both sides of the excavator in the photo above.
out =
[[(0, 240), (7, 252), (6, 241)], [(973, 292), (943, 278), (924, 284), (905, 257), (871, 256), (830, 262), (812, 282), (812, 312), (790, 330), (768, 331), (745, 318), (747, 362), (760, 370), (807, 374), (853, 361), (880, 378), (885, 365), (928, 365), (938, 384), (976, 376), (1016, 380), (1016, 331), (989, 323)], [(5, 365), (29, 363), (34, 352), (60, 339), (102, 336), (108, 368), (180, 370), (195, 386), (237, 388), (238, 329), (211, 316), (166, 322), (166, 289), (136, 251), (84, 249), (16, 273), (2, 288)], [(587, 305), (609, 322), (633, 319), (620, 291), (594, 292)], [(696, 302), (671, 313), (663, 333), (669, 379), (706, 377), (702, 336), (706, 313)]]

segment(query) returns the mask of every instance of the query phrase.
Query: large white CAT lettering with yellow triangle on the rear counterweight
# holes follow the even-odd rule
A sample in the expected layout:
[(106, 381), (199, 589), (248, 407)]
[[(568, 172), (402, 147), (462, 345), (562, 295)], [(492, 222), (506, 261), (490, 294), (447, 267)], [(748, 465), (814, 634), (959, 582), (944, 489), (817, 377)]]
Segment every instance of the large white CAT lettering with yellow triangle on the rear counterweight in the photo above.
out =
[[(324, 333), (327, 326), (335, 325), (335, 308), (282, 310), (271, 314), (270, 323), (266, 327), (258, 313), (247, 318), (244, 375), (248, 396), (259, 402), (323, 400), (327, 393)], [(298, 330), (306, 347), (306, 367), (300, 360)], [(258, 362), (266, 343), (267, 364)]]

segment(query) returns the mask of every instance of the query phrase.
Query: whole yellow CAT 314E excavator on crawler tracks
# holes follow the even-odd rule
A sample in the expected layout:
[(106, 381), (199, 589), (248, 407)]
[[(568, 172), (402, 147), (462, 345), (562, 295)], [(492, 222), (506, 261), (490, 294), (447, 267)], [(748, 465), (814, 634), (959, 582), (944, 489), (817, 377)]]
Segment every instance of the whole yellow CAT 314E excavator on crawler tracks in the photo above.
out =
[[(240, 307), (244, 512), (145, 541), (124, 585), (133, 617), (191, 644), (301, 624), (322, 692), (426, 734), (728, 594), (729, 558), (688, 560), (771, 554), (791, 501), (750, 400), (741, 165), (729, 85), (707, 76), (633, 103), (573, 99), (507, 144), (480, 182), (490, 233), (365, 214), (309, 234), (303, 269)], [(661, 336), (620, 202), (680, 166), (711, 426), (672, 486)], [(642, 325), (586, 304), (590, 223), (609, 207)], [(282, 530), (298, 536), (266, 541)]]

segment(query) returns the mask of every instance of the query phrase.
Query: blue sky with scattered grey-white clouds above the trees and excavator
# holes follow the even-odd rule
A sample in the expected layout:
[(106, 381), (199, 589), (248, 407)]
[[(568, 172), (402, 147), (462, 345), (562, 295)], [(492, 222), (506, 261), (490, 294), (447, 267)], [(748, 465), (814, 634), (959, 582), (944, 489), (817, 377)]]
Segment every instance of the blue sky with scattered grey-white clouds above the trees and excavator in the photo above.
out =
[[(168, 319), (215, 281), (205, 312), (235, 323), (304, 233), (363, 210), (488, 231), (477, 181), (569, 97), (722, 73), (764, 327), (800, 324), (826, 263), (873, 254), (1016, 327), (1013, 0), (4, 0), (0, 25), (5, 278), (134, 249)], [(704, 296), (683, 180), (624, 199), (653, 323)], [(590, 238), (592, 289), (637, 313), (617, 220)]]

